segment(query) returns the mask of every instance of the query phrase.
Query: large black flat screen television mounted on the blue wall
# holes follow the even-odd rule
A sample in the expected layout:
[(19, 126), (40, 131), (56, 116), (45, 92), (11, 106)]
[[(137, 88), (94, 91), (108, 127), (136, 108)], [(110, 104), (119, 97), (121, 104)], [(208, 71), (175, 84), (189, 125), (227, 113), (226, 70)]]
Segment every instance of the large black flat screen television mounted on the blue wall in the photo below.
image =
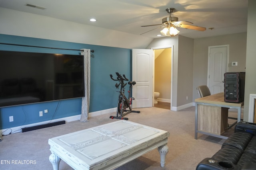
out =
[(84, 97), (83, 58), (0, 51), (0, 107)]

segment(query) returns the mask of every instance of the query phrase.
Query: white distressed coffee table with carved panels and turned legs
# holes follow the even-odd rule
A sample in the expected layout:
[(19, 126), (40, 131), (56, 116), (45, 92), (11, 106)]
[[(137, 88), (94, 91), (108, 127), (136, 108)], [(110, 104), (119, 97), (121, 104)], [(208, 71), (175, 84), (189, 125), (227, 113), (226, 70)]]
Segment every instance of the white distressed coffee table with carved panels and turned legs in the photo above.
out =
[(161, 166), (169, 132), (120, 120), (48, 140), (54, 170), (64, 160), (75, 170), (112, 170), (158, 148)]

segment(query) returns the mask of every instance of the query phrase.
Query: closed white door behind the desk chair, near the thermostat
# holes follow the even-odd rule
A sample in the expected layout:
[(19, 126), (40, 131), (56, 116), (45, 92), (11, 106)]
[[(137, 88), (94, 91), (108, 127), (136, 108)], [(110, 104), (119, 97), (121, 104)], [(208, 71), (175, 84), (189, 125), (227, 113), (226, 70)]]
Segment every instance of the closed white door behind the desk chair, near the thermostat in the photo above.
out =
[(208, 48), (208, 81), (211, 94), (224, 92), (224, 73), (227, 72), (228, 45)]

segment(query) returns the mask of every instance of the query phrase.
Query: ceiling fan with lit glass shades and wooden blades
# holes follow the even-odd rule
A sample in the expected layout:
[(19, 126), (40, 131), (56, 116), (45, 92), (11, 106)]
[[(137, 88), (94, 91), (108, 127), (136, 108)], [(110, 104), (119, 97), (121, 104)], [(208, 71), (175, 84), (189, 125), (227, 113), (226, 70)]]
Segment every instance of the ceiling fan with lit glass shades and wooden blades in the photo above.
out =
[[(155, 29), (164, 27), (164, 29), (162, 31), (160, 31), (162, 33), (162, 35), (165, 36), (169, 36), (169, 37), (173, 37), (175, 35), (177, 35), (180, 31), (178, 31), (178, 29), (176, 29), (176, 27), (181, 27), (181, 28), (186, 28), (186, 29), (194, 29), (197, 31), (205, 31), (206, 28), (205, 27), (198, 27), (198, 26), (194, 26), (194, 25), (189, 25), (189, 24), (193, 24), (192, 22), (189, 21), (178, 21), (177, 17), (172, 17), (171, 14), (174, 11), (174, 8), (167, 8), (166, 12), (169, 13), (169, 17), (163, 18), (162, 19), (162, 23), (160, 24), (154, 24), (154, 25), (142, 25), (141, 27), (149, 27), (149, 26), (155, 26), (155, 25), (161, 25), (160, 27), (157, 27)], [(150, 31), (153, 31), (154, 29), (151, 29)], [(147, 31), (149, 32), (149, 31)], [(144, 33), (147, 33), (144, 32)], [(142, 34), (144, 34), (142, 33)], [(140, 35), (142, 35), (140, 34)]]

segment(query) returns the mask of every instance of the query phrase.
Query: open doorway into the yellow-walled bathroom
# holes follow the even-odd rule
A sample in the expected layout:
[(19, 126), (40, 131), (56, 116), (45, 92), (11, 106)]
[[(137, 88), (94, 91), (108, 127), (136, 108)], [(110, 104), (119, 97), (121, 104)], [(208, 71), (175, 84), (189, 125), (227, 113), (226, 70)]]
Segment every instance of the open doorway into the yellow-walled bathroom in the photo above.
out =
[[(154, 107), (171, 109), (172, 48), (154, 49), (154, 92), (159, 93)], [(154, 96), (153, 96), (154, 98)], [(154, 98), (155, 100), (155, 98)]]

